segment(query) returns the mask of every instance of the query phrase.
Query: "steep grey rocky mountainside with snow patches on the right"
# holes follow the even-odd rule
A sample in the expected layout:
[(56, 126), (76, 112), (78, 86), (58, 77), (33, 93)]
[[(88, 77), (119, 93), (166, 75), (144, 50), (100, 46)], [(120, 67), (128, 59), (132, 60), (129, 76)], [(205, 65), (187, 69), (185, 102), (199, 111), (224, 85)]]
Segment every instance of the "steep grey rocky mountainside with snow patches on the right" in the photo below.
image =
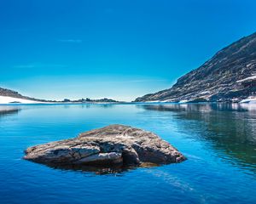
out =
[(228, 101), (256, 98), (256, 32), (223, 48), (212, 59), (143, 101)]

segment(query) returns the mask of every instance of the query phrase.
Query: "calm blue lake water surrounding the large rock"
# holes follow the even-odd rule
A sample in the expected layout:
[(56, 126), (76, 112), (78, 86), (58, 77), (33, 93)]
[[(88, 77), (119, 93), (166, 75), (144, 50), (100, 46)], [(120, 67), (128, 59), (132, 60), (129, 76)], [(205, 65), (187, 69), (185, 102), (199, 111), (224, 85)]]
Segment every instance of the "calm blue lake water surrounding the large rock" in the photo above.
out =
[[(113, 123), (157, 133), (188, 160), (103, 175), (22, 160)], [(1, 105), (0, 148), (1, 203), (256, 203), (253, 105)]]

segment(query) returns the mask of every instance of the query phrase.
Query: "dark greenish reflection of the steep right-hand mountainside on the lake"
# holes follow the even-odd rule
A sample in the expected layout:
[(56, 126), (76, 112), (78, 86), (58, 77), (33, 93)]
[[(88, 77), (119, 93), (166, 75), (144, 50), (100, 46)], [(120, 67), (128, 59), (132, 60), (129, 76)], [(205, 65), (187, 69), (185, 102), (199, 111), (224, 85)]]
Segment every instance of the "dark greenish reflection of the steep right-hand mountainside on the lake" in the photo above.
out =
[[(148, 111), (172, 111), (180, 129), (212, 144), (219, 156), (256, 173), (256, 106), (239, 104), (138, 105)], [(187, 122), (203, 122), (203, 125)], [(232, 157), (232, 158), (230, 158)], [(235, 159), (235, 162), (234, 162)]]

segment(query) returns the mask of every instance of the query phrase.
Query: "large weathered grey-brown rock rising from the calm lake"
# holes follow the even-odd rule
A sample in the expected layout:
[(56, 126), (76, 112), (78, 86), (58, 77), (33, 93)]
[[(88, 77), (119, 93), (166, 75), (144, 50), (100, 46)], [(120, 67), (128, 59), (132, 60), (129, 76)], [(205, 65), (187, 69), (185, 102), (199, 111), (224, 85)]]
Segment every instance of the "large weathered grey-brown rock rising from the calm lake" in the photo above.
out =
[(80, 133), (77, 138), (27, 148), (24, 159), (58, 165), (137, 166), (143, 162), (168, 164), (186, 158), (154, 133), (124, 125), (110, 125)]

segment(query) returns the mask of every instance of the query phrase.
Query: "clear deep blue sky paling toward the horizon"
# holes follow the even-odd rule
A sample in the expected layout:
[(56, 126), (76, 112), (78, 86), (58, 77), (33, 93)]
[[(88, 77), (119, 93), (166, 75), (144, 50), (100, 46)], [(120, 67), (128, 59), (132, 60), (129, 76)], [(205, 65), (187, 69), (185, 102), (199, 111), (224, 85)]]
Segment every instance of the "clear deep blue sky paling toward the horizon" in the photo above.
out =
[(131, 100), (256, 31), (254, 0), (1, 0), (0, 87)]

